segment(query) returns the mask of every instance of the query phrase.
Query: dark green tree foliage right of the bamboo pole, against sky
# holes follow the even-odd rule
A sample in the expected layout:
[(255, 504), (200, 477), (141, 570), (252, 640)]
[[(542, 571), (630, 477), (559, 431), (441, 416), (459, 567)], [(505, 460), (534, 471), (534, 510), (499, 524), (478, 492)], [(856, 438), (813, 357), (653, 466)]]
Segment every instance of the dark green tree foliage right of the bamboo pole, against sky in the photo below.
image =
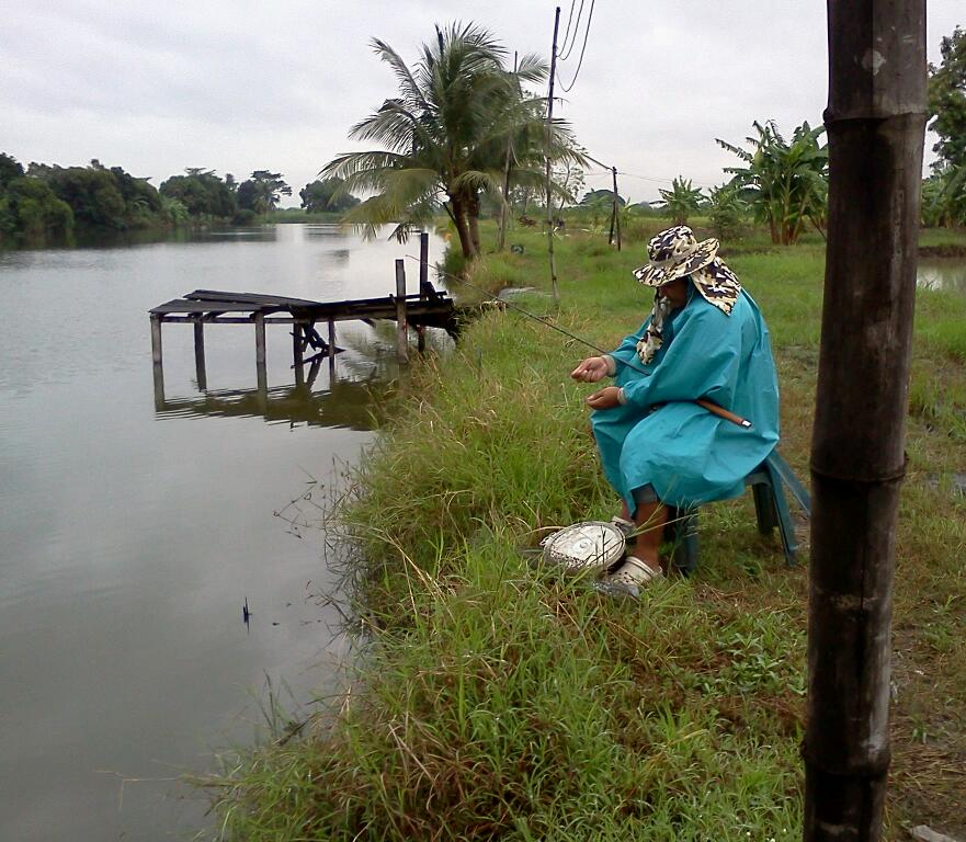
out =
[(966, 30), (943, 38), (943, 60), (929, 67), (929, 128), (939, 135), (935, 167), (966, 168)]

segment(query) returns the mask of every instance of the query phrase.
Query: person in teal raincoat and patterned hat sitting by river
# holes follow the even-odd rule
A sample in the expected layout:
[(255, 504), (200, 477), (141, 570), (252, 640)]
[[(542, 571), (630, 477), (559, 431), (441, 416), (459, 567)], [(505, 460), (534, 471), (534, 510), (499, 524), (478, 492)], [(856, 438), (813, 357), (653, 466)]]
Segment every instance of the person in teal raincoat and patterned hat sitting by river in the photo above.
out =
[[(779, 383), (758, 305), (716, 257), (674, 226), (648, 243), (650, 262), (634, 270), (656, 287), (640, 329), (610, 354), (591, 356), (570, 376), (614, 377), (587, 398), (604, 475), (621, 496), (614, 522), (634, 542), (604, 590), (637, 596), (661, 576), (658, 558), (668, 507), (694, 509), (739, 496), (745, 477), (779, 442)], [(705, 409), (709, 401), (752, 421), (743, 428)]]

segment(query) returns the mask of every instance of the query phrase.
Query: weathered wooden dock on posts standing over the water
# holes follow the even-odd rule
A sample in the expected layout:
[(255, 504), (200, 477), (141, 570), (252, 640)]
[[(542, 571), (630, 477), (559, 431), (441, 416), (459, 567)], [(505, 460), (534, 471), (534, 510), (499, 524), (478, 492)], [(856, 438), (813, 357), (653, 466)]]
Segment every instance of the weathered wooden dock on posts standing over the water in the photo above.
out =
[[(235, 293), (221, 289), (195, 289), (181, 298), (159, 304), (149, 310), (151, 320), (151, 360), (155, 368), (156, 402), (164, 401), (161, 326), (166, 322), (190, 322), (194, 326), (194, 355), (198, 389), (207, 388), (205, 372), (205, 327), (212, 325), (253, 325), (255, 371), (260, 390), (268, 388), (265, 368), (265, 329), (269, 325), (292, 325), (292, 367), (296, 385), (306, 382), (305, 366), (311, 374), (326, 357), (334, 372), (336, 323), (339, 321), (390, 320), (397, 323), (397, 356), (409, 359), (409, 328), (414, 328), (419, 350), (425, 348), (425, 328), (441, 328), (454, 339), (459, 331), (461, 311), (445, 292), (428, 281), (428, 235), (421, 236), (419, 292), (406, 293), (406, 270), (396, 261), (396, 295), (382, 298), (357, 298), (342, 301), (317, 301), (263, 293)], [(317, 326), (327, 326), (327, 335)], [(311, 376), (311, 379), (315, 379)]]

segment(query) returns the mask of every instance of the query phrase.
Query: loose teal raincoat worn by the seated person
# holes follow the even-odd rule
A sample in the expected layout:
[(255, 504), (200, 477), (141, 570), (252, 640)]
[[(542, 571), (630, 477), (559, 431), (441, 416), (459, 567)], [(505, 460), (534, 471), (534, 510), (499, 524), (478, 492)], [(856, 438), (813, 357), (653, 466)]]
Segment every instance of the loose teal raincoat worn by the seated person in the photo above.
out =
[[(758, 305), (742, 289), (728, 316), (689, 282), (687, 304), (664, 318), (663, 344), (645, 365), (637, 342), (649, 321), (612, 354), (627, 402), (591, 413), (604, 474), (630, 512), (634, 491), (648, 483), (679, 509), (737, 497), (779, 441), (777, 376)], [(752, 429), (712, 414), (696, 398), (747, 418)]]

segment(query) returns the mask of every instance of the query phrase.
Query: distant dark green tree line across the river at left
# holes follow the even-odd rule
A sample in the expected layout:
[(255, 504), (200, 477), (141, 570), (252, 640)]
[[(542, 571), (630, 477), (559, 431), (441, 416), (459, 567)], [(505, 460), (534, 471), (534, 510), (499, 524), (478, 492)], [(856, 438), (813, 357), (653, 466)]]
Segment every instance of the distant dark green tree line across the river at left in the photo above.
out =
[[(341, 179), (314, 181), (299, 193), (306, 210), (343, 213), (359, 200)], [(87, 167), (32, 162), (0, 152), (0, 244), (70, 242), (75, 232), (104, 234), (264, 219), (292, 187), (282, 173), (255, 170), (241, 183), (228, 173), (189, 168), (155, 187), (146, 178), (96, 159)]]

